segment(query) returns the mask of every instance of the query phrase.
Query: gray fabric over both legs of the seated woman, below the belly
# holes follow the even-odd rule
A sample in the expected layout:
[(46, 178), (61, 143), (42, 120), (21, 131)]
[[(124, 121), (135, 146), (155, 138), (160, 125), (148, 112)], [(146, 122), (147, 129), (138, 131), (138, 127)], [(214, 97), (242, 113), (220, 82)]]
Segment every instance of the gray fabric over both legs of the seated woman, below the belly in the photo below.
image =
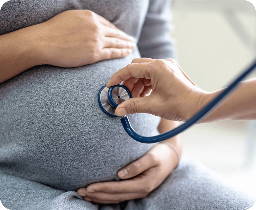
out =
[(182, 158), (179, 166), (148, 197), (120, 204), (98, 205), (75, 191), (0, 174), (0, 198), (11, 210), (245, 210), (255, 198), (228, 186), (196, 160)]

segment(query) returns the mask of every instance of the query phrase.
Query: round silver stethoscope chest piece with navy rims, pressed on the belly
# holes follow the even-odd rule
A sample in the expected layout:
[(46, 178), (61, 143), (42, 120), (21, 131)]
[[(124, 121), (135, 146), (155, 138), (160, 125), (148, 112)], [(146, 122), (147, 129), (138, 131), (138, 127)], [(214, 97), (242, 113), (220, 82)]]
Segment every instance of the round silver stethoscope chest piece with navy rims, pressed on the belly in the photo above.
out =
[(131, 98), (131, 93), (123, 85), (112, 86), (109, 89), (103, 86), (98, 93), (100, 108), (104, 113), (112, 117), (116, 117), (116, 107), (129, 98)]

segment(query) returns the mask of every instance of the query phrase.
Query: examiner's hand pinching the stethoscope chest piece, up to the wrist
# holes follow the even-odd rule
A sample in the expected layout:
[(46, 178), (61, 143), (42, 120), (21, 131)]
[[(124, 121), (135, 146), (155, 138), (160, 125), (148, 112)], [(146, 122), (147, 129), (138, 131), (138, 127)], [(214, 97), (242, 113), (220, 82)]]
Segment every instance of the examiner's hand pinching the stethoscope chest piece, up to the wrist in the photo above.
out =
[(111, 77), (107, 88), (122, 81), (132, 98), (117, 106), (117, 116), (149, 113), (168, 120), (186, 121), (209, 100), (209, 93), (200, 89), (173, 59), (134, 59)]

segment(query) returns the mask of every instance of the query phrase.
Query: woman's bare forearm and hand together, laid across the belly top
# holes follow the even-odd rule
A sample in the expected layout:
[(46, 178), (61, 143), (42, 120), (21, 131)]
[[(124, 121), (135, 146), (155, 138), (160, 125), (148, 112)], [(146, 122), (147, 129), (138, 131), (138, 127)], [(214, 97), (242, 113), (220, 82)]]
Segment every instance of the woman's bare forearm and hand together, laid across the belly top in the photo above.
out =
[(0, 35), (0, 83), (37, 65), (78, 67), (132, 53), (134, 38), (90, 10)]

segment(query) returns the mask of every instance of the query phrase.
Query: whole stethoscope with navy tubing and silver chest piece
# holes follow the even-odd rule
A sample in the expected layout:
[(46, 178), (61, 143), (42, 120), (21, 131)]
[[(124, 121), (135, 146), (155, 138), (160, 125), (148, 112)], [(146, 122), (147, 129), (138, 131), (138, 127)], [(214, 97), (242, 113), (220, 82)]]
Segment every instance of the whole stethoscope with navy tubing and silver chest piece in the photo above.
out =
[[(182, 125), (180, 125), (179, 127), (171, 131), (167, 131), (165, 133), (162, 133), (160, 135), (153, 136), (153, 137), (141, 136), (134, 131), (126, 115), (121, 116), (121, 119), (120, 119), (122, 122), (123, 128), (130, 137), (132, 137), (133, 139), (141, 143), (156, 143), (156, 142), (164, 141), (168, 138), (174, 137), (179, 133), (181, 133), (182, 131), (189, 128), (198, 120), (200, 120), (217, 103), (219, 103), (220, 100), (224, 98), (224, 96), (230, 93), (230, 91), (233, 90), (234, 87), (237, 86), (238, 83), (242, 81), (242, 79), (244, 79), (246, 75), (252, 72), (255, 67), (256, 67), (256, 60), (252, 63), (250, 67), (248, 67), (248, 69), (246, 69), (240, 76), (238, 76), (238, 78), (236, 78), (221, 94), (219, 94), (215, 99), (213, 99), (201, 111), (199, 111), (197, 114), (191, 117), (188, 121), (186, 121), (185, 123), (183, 123)], [(123, 101), (127, 100), (128, 98), (131, 98), (130, 91), (128, 90), (128, 88), (120, 84), (116, 86), (112, 86), (109, 89), (106, 86), (103, 86), (98, 93), (98, 102), (99, 102), (100, 108), (104, 113), (112, 117), (117, 117), (115, 115), (116, 107)]]

